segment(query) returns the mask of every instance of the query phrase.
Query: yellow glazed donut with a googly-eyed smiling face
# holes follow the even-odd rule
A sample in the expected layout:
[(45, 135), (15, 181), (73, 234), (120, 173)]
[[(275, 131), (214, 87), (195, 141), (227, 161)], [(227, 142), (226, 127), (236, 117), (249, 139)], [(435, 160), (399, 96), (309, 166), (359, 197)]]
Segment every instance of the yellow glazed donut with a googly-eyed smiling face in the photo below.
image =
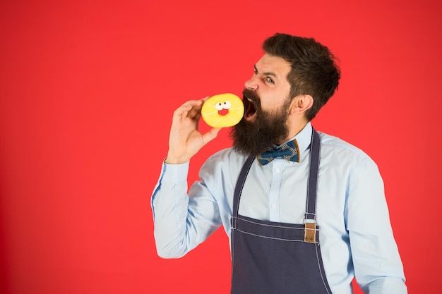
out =
[(201, 115), (205, 123), (213, 128), (236, 125), (244, 115), (244, 104), (235, 94), (217, 94), (205, 100)]

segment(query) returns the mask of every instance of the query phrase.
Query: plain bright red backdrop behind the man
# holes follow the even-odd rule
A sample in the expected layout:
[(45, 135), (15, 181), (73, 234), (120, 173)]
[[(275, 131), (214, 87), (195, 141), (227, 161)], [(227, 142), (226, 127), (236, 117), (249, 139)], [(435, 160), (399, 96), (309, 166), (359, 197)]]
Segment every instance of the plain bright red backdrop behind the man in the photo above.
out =
[[(410, 293), (436, 293), (438, 1), (151, 2), (1, 2), (0, 293), (228, 293), (225, 233), (160, 259), (150, 194), (172, 111), (240, 94), (275, 32), (340, 59), (313, 125), (378, 163)], [(227, 133), (194, 157), (190, 181)]]

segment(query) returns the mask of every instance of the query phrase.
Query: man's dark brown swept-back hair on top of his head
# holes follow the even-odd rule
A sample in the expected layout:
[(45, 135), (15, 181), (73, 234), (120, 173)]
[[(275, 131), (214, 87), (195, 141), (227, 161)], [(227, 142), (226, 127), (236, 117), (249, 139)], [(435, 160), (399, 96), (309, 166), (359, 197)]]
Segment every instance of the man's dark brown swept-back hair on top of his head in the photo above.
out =
[(263, 50), (290, 63), (290, 99), (300, 94), (313, 97), (313, 106), (306, 111), (306, 118), (311, 121), (338, 89), (340, 68), (333, 54), (313, 38), (281, 33), (265, 39)]

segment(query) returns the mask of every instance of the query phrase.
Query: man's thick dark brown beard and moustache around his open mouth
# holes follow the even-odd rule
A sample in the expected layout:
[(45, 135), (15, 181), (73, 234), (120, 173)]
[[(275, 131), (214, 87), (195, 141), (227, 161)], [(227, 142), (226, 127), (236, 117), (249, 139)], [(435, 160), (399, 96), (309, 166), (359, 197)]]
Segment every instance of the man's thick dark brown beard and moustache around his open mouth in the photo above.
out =
[[(258, 155), (273, 145), (282, 143), (287, 138), (289, 130), (287, 128), (287, 118), (289, 116), (290, 100), (276, 111), (276, 113), (264, 112), (261, 109), (260, 98), (255, 92), (244, 89), (243, 91), (244, 108), (246, 116), (253, 107), (256, 111), (254, 121), (246, 121), (244, 118), (235, 125), (230, 137), (233, 140), (233, 149), (237, 152), (249, 155)], [(251, 99), (251, 102), (249, 101)]]

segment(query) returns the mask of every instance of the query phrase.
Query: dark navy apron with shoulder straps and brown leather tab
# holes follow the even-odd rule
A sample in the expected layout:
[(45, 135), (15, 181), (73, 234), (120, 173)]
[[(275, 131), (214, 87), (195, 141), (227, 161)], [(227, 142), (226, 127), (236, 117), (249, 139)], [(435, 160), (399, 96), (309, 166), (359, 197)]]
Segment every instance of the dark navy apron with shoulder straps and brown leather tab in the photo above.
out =
[(313, 130), (304, 223), (261, 221), (238, 214), (241, 190), (255, 157), (244, 164), (234, 192), (231, 294), (331, 294), (316, 226), (320, 138)]

